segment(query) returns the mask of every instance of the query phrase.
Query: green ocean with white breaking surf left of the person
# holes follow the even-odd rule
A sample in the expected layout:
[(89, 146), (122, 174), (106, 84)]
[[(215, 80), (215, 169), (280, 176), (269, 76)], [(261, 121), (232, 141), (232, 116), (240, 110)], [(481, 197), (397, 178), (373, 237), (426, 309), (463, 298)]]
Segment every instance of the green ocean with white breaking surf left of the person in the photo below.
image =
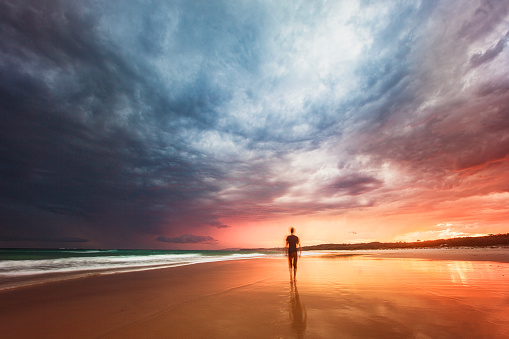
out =
[(265, 251), (0, 249), (0, 290), (91, 274), (281, 255)]

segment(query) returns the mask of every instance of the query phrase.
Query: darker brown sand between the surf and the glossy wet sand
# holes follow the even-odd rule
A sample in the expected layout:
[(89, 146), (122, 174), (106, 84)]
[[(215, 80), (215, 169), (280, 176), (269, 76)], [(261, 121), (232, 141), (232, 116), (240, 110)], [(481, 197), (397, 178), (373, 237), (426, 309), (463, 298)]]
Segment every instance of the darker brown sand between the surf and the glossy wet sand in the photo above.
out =
[(0, 328), (10, 338), (121, 338), (118, 331), (174, 315), (192, 301), (255, 284), (267, 274), (283, 278), (282, 260), (208, 262), (2, 290)]

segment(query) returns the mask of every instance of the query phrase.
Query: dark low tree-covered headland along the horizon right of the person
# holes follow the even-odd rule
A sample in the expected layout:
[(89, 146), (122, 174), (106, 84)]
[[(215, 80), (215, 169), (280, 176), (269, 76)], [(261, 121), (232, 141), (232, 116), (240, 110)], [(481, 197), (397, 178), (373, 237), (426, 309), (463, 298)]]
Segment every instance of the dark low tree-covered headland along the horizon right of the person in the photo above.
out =
[(322, 244), (303, 246), (304, 251), (316, 250), (383, 250), (401, 248), (437, 248), (437, 247), (488, 247), (509, 245), (509, 233), (490, 234), (482, 237), (463, 237), (416, 242), (369, 242), (358, 244)]

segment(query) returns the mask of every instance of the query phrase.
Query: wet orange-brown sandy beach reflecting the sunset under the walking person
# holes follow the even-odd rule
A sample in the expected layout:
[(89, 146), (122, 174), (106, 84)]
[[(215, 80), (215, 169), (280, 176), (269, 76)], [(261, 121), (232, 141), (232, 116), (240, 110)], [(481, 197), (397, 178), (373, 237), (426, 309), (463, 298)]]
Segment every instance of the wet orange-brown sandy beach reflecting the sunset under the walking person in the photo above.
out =
[(504, 338), (508, 249), (304, 253), (0, 291), (5, 338)]

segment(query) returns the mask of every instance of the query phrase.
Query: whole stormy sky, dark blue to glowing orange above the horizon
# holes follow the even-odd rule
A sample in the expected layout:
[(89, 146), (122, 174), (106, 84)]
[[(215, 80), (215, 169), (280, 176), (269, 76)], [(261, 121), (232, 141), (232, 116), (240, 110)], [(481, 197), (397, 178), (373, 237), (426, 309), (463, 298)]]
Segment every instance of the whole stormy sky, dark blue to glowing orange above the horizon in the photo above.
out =
[(0, 246), (509, 231), (509, 2), (0, 2)]

